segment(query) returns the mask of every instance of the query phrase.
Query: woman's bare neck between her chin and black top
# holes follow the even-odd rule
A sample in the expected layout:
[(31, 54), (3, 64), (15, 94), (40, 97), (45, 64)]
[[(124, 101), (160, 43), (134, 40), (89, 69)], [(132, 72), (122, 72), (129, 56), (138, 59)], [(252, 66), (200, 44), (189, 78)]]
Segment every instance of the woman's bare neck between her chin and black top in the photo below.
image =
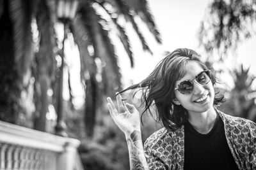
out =
[(211, 131), (216, 120), (217, 113), (212, 107), (202, 113), (189, 113), (188, 121), (201, 134), (207, 134)]

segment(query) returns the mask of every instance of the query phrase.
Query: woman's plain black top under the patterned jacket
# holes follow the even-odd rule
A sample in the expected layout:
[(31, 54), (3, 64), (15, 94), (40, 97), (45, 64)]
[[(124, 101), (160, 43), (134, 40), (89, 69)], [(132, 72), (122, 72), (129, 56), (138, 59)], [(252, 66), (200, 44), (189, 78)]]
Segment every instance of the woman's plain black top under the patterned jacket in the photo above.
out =
[(207, 134), (200, 134), (186, 122), (184, 169), (238, 169), (225, 137), (223, 121), (216, 121)]

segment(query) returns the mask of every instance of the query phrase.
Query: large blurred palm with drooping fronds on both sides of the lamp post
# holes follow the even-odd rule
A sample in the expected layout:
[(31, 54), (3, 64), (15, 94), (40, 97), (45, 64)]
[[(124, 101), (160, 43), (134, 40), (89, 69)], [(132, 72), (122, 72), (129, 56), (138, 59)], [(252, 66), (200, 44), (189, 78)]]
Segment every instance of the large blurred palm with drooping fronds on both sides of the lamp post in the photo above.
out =
[[(24, 113), (20, 104), (20, 93), (34, 85), (35, 128), (45, 131), (45, 114), (49, 103), (57, 103), (54, 90), (58, 66), (56, 55), (61, 53), (56, 41), (56, 2), (54, 0), (1, 0), (0, 1), (0, 78), (1, 120), (19, 124), (19, 115)], [(105, 11), (110, 19), (98, 13)], [(150, 32), (161, 43), (154, 19), (146, 0), (86, 0), (79, 1), (74, 22), (68, 30), (79, 48), (81, 82), (85, 90), (84, 122), (88, 136), (93, 135), (95, 113), (102, 103), (102, 96), (113, 96), (113, 91), (122, 88), (120, 68), (117, 64), (115, 46), (109, 38), (109, 30), (115, 25), (120, 41), (124, 45), (134, 66), (129, 37), (122, 18), (131, 22), (140, 38), (144, 50), (152, 53), (134, 17), (140, 17)], [(89, 52), (88, 48), (93, 48)], [(100, 60), (95, 64), (95, 60)], [(99, 78), (100, 77), (100, 78)], [(31, 81), (33, 80), (33, 81)], [(53, 98), (47, 91), (53, 89)], [(28, 93), (28, 92), (27, 92)]]

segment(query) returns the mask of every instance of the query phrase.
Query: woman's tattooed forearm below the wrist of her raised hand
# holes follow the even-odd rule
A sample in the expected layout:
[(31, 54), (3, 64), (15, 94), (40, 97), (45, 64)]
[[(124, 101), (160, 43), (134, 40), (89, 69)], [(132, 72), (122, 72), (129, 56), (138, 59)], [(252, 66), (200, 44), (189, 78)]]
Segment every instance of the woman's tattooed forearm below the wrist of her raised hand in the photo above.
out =
[(131, 135), (125, 136), (129, 150), (130, 169), (148, 169), (141, 140), (141, 132), (133, 131)]

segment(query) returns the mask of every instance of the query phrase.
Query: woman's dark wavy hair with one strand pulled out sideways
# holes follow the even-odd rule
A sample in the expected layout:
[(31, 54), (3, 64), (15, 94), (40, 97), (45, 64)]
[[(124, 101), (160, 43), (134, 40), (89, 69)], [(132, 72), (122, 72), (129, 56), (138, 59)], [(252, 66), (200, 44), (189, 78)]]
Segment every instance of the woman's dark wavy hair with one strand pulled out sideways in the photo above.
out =
[[(175, 131), (188, 120), (188, 111), (183, 106), (173, 103), (173, 99), (175, 99), (175, 82), (186, 74), (184, 68), (189, 61), (198, 62), (203, 69), (211, 69), (200, 60), (200, 55), (195, 51), (178, 48), (161, 60), (145, 80), (120, 93), (134, 89), (142, 90), (141, 101), (145, 102), (143, 113), (148, 110), (152, 115), (150, 106), (155, 105), (158, 122), (161, 122), (166, 129)], [(214, 85), (216, 78), (211, 76), (211, 81)], [(223, 95), (214, 96), (214, 106), (220, 105), (223, 101)]]

